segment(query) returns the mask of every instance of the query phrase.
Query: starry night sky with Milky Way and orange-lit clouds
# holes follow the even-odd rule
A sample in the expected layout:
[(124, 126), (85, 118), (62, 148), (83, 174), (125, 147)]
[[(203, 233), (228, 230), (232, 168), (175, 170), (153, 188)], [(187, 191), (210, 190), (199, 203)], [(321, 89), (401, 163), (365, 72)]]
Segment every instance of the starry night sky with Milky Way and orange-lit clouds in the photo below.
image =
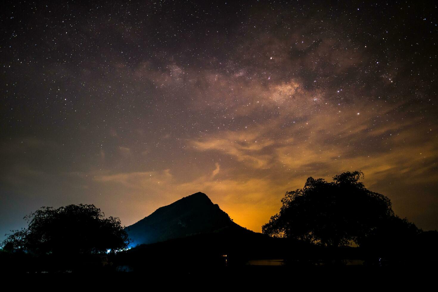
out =
[(260, 232), (354, 170), (438, 228), (433, 1), (90, 2), (0, 9), (0, 239), (41, 206), (131, 225), (198, 191)]

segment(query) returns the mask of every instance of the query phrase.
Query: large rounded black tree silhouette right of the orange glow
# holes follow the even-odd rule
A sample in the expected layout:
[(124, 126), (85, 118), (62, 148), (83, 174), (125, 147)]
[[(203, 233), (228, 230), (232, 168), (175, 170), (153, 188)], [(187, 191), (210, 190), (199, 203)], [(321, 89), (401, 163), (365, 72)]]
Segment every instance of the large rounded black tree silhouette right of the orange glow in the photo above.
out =
[(367, 190), (363, 172), (343, 172), (332, 182), (309, 177), (302, 189), (286, 192), (278, 214), (262, 233), (322, 246), (360, 244), (394, 217), (388, 197)]

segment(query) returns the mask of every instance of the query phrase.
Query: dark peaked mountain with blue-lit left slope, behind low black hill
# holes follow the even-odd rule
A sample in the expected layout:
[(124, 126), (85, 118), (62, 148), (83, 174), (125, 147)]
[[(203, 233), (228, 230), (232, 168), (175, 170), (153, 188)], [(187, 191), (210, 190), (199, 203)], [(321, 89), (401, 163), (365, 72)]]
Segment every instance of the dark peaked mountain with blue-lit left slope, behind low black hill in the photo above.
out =
[(158, 208), (125, 230), (132, 239), (131, 246), (223, 230), (249, 232), (234, 223), (205, 193), (200, 192)]

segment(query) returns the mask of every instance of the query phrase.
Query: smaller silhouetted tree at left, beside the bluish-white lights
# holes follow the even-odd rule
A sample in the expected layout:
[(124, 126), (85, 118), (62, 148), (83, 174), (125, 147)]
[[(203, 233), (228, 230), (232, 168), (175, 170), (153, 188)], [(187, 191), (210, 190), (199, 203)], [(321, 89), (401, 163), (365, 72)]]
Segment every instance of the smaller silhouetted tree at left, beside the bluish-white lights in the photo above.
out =
[(123, 250), (129, 239), (120, 219), (109, 217), (94, 205), (42, 207), (26, 216), (27, 229), (9, 235), (3, 245), (37, 255), (92, 254)]

